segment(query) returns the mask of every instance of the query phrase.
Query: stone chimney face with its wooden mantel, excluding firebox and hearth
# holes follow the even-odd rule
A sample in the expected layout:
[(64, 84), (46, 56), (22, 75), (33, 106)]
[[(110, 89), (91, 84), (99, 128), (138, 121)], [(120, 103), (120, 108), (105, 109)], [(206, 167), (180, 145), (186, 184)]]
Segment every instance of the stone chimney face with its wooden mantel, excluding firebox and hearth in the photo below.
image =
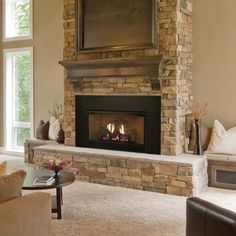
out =
[[(64, 81), (66, 145), (75, 146), (80, 139), (76, 132), (76, 96), (156, 96), (161, 98), (157, 153), (183, 152), (185, 116), (192, 100), (192, 0), (153, 2), (155, 47), (78, 53), (76, 0), (64, 0), (64, 60), (60, 63), (67, 72)], [(112, 127), (113, 121), (107, 120), (106, 125), (109, 124)], [(118, 125), (119, 130), (122, 124)], [(137, 143), (142, 145), (143, 139), (140, 140)]]

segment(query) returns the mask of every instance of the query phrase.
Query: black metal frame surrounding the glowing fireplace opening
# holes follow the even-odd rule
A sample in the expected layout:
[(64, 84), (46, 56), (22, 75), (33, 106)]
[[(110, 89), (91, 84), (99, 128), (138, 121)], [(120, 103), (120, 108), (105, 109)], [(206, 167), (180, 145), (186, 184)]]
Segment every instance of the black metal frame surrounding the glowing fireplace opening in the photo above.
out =
[[(75, 96), (76, 146), (160, 154), (161, 96)], [(144, 116), (144, 144), (95, 143), (89, 140), (88, 119), (94, 112), (119, 112)]]

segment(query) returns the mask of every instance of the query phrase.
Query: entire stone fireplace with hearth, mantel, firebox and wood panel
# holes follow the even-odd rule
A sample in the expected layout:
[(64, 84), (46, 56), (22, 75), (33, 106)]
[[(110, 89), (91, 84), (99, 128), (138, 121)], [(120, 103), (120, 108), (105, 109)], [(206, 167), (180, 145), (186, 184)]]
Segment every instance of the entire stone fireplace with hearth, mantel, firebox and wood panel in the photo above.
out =
[[(192, 101), (192, 3), (64, 0), (65, 44), (60, 64), (66, 71), (66, 145), (35, 147), (37, 165), (49, 158), (67, 160), (79, 180), (182, 196), (194, 196), (207, 186), (206, 158), (177, 155), (183, 152), (185, 116), (190, 113)], [(139, 7), (137, 11), (139, 4), (145, 6), (144, 10)], [(145, 9), (150, 12), (150, 7), (152, 19), (146, 12), (143, 24), (140, 14), (145, 14)], [(98, 9), (103, 12), (98, 12), (97, 22)], [(123, 9), (123, 21), (129, 21), (128, 27), (125, 23), (120, 27), (111, 21), (104, 23), (104, 15), (114, 20), (113, 15), (119, 18)], [(135, 13), (129, 17), (127, 12), (133, 9)], [(89, 13), (86, 19), (80, 15), (84, 10)], [(134, 16), (139, 19), (135, 21)], [(81, 20), (85, 25), (80, 24)], [(140, 42), (136, 35), (134, 40), (129, 38), (133, 23), (142, 45), (135, 44)], [(149, 23), (153, 27), (145, 27)], [(93, 30), (99, 24), (102, 27), (96, 35)], [(104, 34), (103, 26), (112, 34)], [(132, 48), (114, 45), (117, 36), (119, 42), (126, 43), (116, 32), (123, 28)], [(82, 40), (80, 34), (78, 37), (81, 31)], [(156, 40), (153, 44), (152, 39)], [(94, 46), (107, 46), (107, 42), (112, 42), (113, 47), (94, 50)]]

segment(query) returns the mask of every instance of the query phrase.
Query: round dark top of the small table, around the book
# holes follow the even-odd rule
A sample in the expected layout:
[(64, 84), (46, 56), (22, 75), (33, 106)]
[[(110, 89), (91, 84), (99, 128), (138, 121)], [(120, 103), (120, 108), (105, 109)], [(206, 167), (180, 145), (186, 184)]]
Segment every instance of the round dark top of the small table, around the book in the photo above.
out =
[(40, 176), (53, 176), (54, 171), (52, 170), (28, 170), (25, 181), (23, 183), (22, 189), (25, 190), (40, 190), (40, 189), (52, 189), (61, 188), (63, 186), (69, 185), (75, 181), (75, 175), (68, 171), (60, 171), (60, 177), (55, 178), (55, 181), (50, 185), (33, 185), (36, 178)]

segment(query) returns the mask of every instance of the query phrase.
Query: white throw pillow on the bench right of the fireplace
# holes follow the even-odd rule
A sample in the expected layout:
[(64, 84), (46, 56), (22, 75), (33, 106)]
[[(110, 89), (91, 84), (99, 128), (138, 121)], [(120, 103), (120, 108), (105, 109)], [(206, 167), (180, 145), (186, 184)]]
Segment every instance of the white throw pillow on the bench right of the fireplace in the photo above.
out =
[(214, 121), (208, 153), (236, 154), (236, 127), (225, 130), (218, 121)]

